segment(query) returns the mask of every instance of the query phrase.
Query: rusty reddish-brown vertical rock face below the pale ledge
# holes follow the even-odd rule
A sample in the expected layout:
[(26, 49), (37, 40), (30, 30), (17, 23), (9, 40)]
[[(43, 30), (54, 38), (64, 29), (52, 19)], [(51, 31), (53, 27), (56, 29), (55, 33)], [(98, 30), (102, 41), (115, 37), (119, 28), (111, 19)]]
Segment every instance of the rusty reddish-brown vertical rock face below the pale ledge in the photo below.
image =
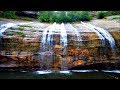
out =
[[(81, 24), (79, 27), (82, 27), (83, 30), (81, 31), (81, 29), (78, 29), (81, 33), (82, 42), (77, 41), (77, 36), (74, 32), (68, 32), (67, 48), (65, 49), (65, 47), (60, 44), (60, 34), (57, 32), (53, 35), (54, 45), (53, 47), (50, 47), (52, 50), (47, 51), (46, 49), (46, 51), (42, 53), (39, 53), (43, 32), (41, 30), (36, 30), (38, 32), (36, 34), (32, 32), (32, 29), (27, 31), (27, 33), (23, 30), (25, 34), (29, 34), (26, 35), (25, 38), (20, 36), (6, 36), (3, 38), (2, 43), (0, 43), (2, 47), (1, 49), (2, 51), (11, 52), (12, 55), (8, 55), (8, 58), (6, 58), (5, 53), (1, 54), (0, 63), (4, 64), (4, 62), (9, 59), (10, 61), (15, 61), (16, 65), (40, 67), (40, 64), (43, 63), (41, 58), (48, 59), (48, 61), (50, 58), (50, 67), (56, 70), (61, 69), (62, 62), (64, 61), (67, 63), (69, 68), (69, 66), (73, 67), (77, 65), (84, 65), (89, 62), (95, 63), (96, 61), (120, 60), (120, 29), (118, 30), (117, 28), (117, 30), (108, 30), (114, 37), (116, 42), (115, 45), (117, 46), (117, 49), (115, 49), (116, 56), (112, 56), (112, 51), (107, 40), (105, 47), (101, 47), (100, 39), (95, 32), (90, 31)], [(45, 62), (45, 65), (49, 63), (47, 60), (45, 60)]]

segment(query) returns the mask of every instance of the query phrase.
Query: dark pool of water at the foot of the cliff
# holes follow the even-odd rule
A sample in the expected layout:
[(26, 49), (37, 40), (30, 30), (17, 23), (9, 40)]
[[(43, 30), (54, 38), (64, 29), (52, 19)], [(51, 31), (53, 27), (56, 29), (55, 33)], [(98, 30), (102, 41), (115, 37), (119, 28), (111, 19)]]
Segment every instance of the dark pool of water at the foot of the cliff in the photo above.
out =
[(120, 70), (2, 71), (0, 79), (120, 79)]

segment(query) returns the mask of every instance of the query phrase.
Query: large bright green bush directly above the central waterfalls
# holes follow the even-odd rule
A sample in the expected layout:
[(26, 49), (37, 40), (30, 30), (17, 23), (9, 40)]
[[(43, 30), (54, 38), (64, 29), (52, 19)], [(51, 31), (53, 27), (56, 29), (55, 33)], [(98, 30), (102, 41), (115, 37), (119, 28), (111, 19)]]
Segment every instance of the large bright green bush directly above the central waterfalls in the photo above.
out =
[(88, 11), (41, 11), (38, 15), (40, 22), (77, 22), (89, 21), (92, 16)]

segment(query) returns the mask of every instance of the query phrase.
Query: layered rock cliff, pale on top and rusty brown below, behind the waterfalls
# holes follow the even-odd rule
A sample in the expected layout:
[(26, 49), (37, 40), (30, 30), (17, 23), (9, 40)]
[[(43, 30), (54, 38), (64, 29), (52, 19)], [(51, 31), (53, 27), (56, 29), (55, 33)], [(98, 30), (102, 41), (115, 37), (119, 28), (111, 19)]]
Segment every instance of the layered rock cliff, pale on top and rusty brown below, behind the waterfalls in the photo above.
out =
[[(72, 24), (78, 32), (73, 33), (71, 30), (67, 31), (67, 48), (60, 44), (60, 32), (55, 29), (53, 34), (53, 45), (48, 49), (45, 49), (45, 52), (39, 53), (42, 44), (42, 33), (51, 24), (15, 21), (10, 19), (1, 20), (2, 22), (16, 23), (17, 26), (7, 29), (4, 32), (5, 36), (0, 40), (0, 67), (17, 66), (29, 67), (30, 69), (30, 67), (41, 67), (40, 65), (42, 63), (43, 66), (49, 65), (49, 69), (55, 70), (66, 67), (70, 69), (74, 69), (73, 67), (75, 67), (75, 69), (89, 69), (89, 67), (100, 68), (103, 66), (105, 66), (105, 68), (106, 66), (119, 68), (117, 67), (118, 65), (115, 66), (120, 61), (120, 23), (117, 20), (93, 20), (91, 22), (87, 22), (104, 28), (114, 37), (116, 42), (115, 45), (117, 46), (115, 49), (115, 56), (112, 55), (111, 48), (107, 40), (106, 45), (101, 47), (102, 44), (98, 35), (84, 27), (81, 23)], [(77, 39), (77, 33), (81, 35), (82, 41), (80, 42)], [(37, 54), (35, 55), (35, 53)], [(4, 56), (7, 56), (7, 58)], [(46, 59), (44, 60), (46, 63), (43, 63), (41, 61), (43, 59), (41, 58)], [(6, 63), (7, 59), (10, 60), (9, 63)], [(47, 62), (47, 59), (50, 59), (51, 62)], [(108, 61), (107, 64), (105, 61)], [(99, 64), (96, 64), (96, 62)], [(61, 67), (62, 64), (65, 64), (65, 67)]]

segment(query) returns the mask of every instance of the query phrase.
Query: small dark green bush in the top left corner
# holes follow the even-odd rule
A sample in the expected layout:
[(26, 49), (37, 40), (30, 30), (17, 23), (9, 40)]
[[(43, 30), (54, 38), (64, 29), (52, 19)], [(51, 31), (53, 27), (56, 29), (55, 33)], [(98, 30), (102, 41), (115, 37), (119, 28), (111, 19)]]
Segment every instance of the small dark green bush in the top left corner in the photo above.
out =
[(16, 18), (16, 15), (15, 15), (15, 12), (16, 11), (1, 11), (0, 12), (0, 17), (2, 18)]

